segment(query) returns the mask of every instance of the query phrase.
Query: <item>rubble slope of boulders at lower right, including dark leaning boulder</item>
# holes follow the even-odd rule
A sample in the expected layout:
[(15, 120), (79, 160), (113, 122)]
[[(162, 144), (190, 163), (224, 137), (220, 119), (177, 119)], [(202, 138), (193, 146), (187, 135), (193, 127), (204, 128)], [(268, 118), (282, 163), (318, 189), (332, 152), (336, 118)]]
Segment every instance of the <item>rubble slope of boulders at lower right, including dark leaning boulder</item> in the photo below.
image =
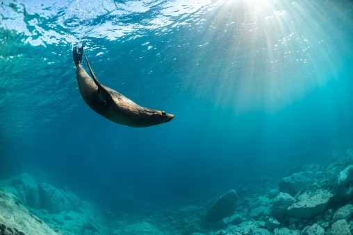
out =
[(234, 190), (220, 196), (206, 211), (207, 227), (222, 227), (215, 234), (352, 234), (353, 150), (325, 166), (303, 166), (265, 195), (239, 200)]

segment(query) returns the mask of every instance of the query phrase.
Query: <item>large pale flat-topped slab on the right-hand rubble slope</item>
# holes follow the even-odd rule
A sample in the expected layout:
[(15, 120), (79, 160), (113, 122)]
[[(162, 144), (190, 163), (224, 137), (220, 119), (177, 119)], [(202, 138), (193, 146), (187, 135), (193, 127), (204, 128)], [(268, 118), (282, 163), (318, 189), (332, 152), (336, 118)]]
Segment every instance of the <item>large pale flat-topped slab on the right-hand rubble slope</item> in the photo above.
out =
[(311, 218), (317, 216), (325, 210), (331, 198), (331, 193), (328, 191), (322, 191), (322, 193), (318, 193), (306, 200), (291, 205), (287, 209), (287, 214), (298, 218)]

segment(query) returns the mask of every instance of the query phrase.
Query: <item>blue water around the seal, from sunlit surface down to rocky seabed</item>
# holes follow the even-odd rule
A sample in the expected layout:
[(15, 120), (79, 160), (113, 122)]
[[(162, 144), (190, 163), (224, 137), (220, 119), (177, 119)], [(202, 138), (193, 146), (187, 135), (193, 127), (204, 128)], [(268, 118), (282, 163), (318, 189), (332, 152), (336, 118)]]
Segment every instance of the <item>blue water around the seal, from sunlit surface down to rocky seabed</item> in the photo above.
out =
[[(0, 16), (1, 177), (162, 207), (352, 148), (352, 1), (18, 0)], [(175, 118), (129, 128), (90, 110), (79, 42), (102, 84)]]

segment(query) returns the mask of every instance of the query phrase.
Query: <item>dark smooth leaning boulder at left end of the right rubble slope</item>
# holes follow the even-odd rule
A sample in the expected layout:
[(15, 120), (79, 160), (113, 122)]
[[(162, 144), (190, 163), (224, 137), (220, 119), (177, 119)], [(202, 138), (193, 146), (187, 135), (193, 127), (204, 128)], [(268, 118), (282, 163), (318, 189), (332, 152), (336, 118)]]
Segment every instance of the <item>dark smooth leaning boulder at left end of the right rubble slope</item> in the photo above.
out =
[(236, 207), (237, 200), (238, 196), (235, 190), (221, 195), (206, 212), (205, 222), (217, 223), (222, 218), (231, 216)]

